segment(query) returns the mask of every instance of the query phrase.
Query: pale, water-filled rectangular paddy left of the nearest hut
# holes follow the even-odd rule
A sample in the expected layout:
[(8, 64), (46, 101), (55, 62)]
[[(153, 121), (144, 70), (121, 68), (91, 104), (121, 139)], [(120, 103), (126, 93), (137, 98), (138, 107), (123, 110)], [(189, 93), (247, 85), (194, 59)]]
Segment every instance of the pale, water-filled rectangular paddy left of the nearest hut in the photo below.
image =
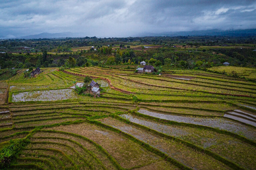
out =
[(12, 94), (13, 102), (54, 101), (74, 98), (76, 98), (76, 96), (72, 89), (42, 90)]

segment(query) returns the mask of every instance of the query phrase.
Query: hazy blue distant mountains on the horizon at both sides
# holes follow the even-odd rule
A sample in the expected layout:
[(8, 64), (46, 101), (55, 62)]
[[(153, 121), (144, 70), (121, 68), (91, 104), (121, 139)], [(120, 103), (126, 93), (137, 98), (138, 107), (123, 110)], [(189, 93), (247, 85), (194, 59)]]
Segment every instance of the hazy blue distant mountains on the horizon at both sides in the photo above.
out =
[[(43, 38), (66, 38), (66, 37), (84, 37), (83, 33), (41, 33), (36, 35), (29, 35), (23, 37), (17, 37), (15, 39), (43, 39)], [(163, 33), (139, 33), (136, 35), (132, 35), (133, 37), (152, 37), (152, 36), (230, 36), (230, 37), (247, 37), (247, 36), (256, 36), (256, 29), (246, 29), (246, 30), (201, 30), (201, 31), (178, 31), (178, 32), (163, 32)], [(10, 37), (6, 37), (0, 35), (0, 39), (8, 39)], [(13, 37), (12, 37), (13, 38)]]

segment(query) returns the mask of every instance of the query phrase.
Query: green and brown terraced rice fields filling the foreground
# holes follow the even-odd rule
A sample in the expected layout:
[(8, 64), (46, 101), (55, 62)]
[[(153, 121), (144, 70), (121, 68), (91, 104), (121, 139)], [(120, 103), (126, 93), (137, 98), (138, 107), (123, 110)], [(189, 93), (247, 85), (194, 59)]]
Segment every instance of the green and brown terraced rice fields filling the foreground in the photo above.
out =
[[(0, 81), (0, 169), (256, 169), (251, 79), (179, 69), (43, 70)], [(70, 88), (85, 76), (101, 85), (100, 97)]]

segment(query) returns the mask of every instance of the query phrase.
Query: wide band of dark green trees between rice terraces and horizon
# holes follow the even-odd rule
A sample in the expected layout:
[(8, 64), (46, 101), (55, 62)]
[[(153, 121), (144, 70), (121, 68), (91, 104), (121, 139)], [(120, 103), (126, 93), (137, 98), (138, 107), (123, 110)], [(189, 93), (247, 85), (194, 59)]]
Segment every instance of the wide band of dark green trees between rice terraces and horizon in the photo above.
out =
[[(200, 46), (237, 45), (238, 43), (255, 47), (255, 42), (256, 37), (216, 36), (4, 40), (0, 41), (0, 46), (5, 47), (7, 51), (17, 46), (29, 46), (37, 51), (33, 54), (0, 53), (0, 66), (1, 68), (109, 66), (136, 65), (146, 61), (154, 66), (163, 65), (165, 68), (201, 69), (222, 65), (223, 62), (229, 62), (234, 66), (256, 67), (256, 51), (252, 48), (200, 48)], [(144, 44), (159, 45), (159, 47), (145, 50)], [(187, 48), (174, 48), (174, 44), (187, 46)], [(132, 49), (130, 48), (132, 45), (140, 45), (141, 49)], [(96, 50), (91, 48), (71, 51), (72, 47), (80, 46), (95, 46)], [(56, 51), (56, 54), (47, 53), (50, 51)]]

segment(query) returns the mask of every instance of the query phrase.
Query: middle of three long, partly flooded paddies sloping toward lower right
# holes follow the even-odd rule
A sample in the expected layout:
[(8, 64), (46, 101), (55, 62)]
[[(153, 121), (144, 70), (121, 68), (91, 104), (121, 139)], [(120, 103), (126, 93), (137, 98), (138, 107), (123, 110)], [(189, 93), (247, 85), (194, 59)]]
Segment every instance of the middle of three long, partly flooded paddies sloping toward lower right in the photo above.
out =
[[(133, 123), (165, 133), (167, 135), (175, 136), (182, 140), (189, 141), (205, 149), (218, 152), (220, 155), (232, 159), (235, 162), (239, 162), (245, 167), (249, 166), (252, 168), (256, 166), (255, 162), (251, 161), (251, 158), (255, 155), (250, 152), (251, 150), (255, 150), (256, 147), (230, 135), (221, 134), (207, 129), (159, 123), (157, 121), (152, 121), (150, 119), (145, 119), (135, 115), (123, 114), (120, 115), (120, 117), (125, 118)], [(102, 122), (104, 123), (107, 121), (103, 120)], [(115, 125), (116, 124), (113, 124), (113, 126)], [(124, 124), (123, 126), (126, 127), (128, 125)], [(256, 141), (256, 133), (254, 133), (254, 136), (250, 136), (250, 139)], [(232, 147), (236, 149), (233, 150)], [(248, 156), (247, 153), (251, 155)], [(233, 155), (237, 156), (234, 157)]]

